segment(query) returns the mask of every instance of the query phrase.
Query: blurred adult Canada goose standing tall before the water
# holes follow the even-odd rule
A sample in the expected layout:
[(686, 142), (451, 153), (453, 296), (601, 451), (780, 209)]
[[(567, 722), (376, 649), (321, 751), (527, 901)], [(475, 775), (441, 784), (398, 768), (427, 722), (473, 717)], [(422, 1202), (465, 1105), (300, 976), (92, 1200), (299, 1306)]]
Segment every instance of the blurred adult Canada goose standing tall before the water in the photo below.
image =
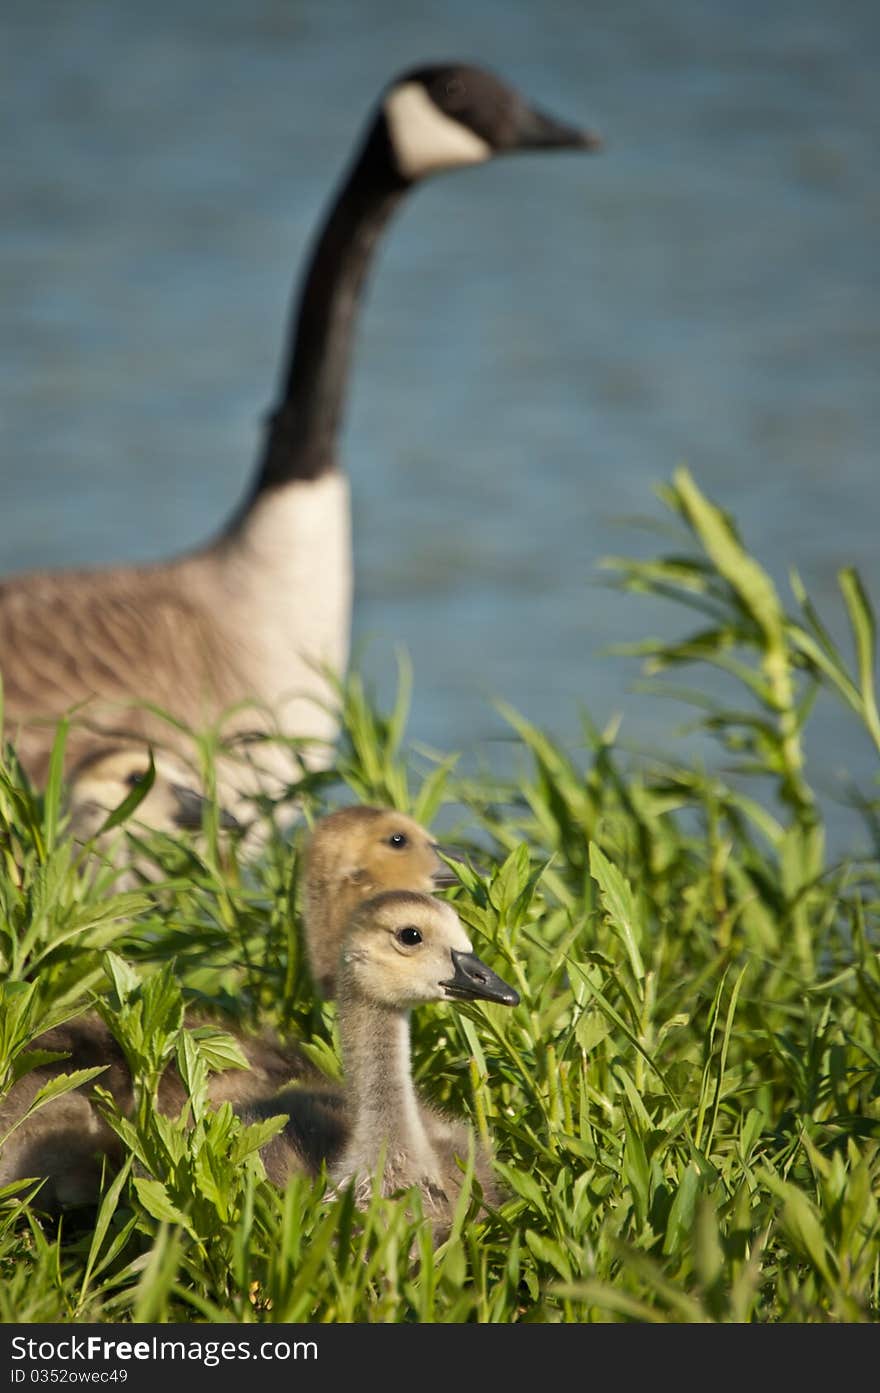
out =
[[(595, 149), (585, 131), (462, 64), (404, 72), (382, 93), (306, 267), (280, 400), (244, 503), (205, 546), (153, 566), (36, 571), (0, 585), (7, 734), (42, 780), (58, 716), (79, 705), (68, 759), (124, 723), (167, 744), (149, 709), (216, 723), (252, 766), (221, 766), (221, 794), (295, 781), (281, 731), (327, 758), (337, 729), (327, 671), (347, 664), (348, 485), (337, 460), (356, 311), (379, 238), (426, 176), (515, 150)], [(131, 703), (135, 703), (134, 706)], [(88, 722), (88, 724), (86, 724)], [(181, 749), (185, 752), (182, 737)]]

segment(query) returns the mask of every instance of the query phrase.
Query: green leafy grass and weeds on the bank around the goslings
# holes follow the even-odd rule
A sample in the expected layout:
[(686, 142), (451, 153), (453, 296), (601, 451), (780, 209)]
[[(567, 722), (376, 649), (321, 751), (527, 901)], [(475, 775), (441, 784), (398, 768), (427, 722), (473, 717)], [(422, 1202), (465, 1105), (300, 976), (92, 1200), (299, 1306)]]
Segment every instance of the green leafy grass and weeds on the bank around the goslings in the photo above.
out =
[[(681, 549), (611, 564), (618, 584), (696, 614), (685, 638), (629, 652), (652, 680), (710, 664), (730, 684), (730, 699), (684, 694), (720, 742), (717, 769), (634, 759), (588, 717), (572, 752), (503, 706), (514, 776), (465, 779), (455, 756), (422, 770), (405, 747), (408, 671), (390, 716), (355, 676), (336, 762), (301, 787), (292, 836), (270, 826), (253, 864), (216, 829), (199, 851), (149, 839), (163, 878), (117, 894), (111, 868), (65, 836), (64, 730), (45, 795), (7, 752), (0, 1089), (42, 1061), (40, 1031), (96, 1004), (135, 1106), (123, 1117), (103, 1095), (127, 1159), (85, 1224), (46, 1219), (35, 1184), (0, 1192), (0, 1319), (877, 1319), (877, 802), (859, 795), (869, 850), (830, 861), (803, 745), (826, 691), (880, 749), (870, 603), (844, 571), (848, 664), (801, 581), (791, 614), (685, 471), (664, 497)], [(209, 1071), (237, 1061), (224, 1025), (272, 1027), (338, 1070), (334, 1007), (302, 960), (299, 848), (354, 797), (422, 820), (458, 809), (483, 869), (462, 869), (455, 907), (522, 995), (515, 1011), (415, 1015), (419, 1087), (493, 1139), (510, 1197), (478, 1217), (465, 1181), (436, 1250), (412, 1195), (361, 1212), (320, 1181), (276, 1191), (258, 1156), (272, 1124), (206, 1102)], [(188, 1003), (217, 1025), (189, 1028)], [(181, 1119), (155, 1106), (171, 1057)]]

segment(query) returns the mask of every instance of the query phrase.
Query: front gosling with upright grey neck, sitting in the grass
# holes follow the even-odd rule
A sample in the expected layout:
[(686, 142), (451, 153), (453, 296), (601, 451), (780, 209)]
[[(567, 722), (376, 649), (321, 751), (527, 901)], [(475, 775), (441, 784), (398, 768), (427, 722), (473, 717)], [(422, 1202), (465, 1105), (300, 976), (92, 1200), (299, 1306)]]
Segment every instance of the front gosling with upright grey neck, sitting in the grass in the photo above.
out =
[(419, 1100), (409, 1063), (409, 1011), (426, 1002), (519, 1000), (475, 954), (451, 905), (409, 890), (387, 890), (358, 905), (337, 974), (344, 1088), (288, 1088), (241, 1109), (248, 1121), (287, 1113), (263, 1148), (270, 1180), (327, 1167), (336, 1185), (355, 1183), (368, 1199), (383, 1163), (382, 1191), (419, 1185), (443, 1229), (461, 1190), (459, 1160), (475, 1151), (475, 1173), (497, 1201), (489, 1156), (469, 1130)]

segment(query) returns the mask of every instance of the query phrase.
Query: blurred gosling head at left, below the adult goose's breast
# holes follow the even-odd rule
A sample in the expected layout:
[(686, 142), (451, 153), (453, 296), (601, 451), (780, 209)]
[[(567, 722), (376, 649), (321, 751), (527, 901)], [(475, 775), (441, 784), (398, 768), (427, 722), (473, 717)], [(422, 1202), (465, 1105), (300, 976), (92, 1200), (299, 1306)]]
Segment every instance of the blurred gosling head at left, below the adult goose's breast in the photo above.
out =
[[(110, 812), (149, 775), (149, 751), (141, 745), (117, 745), (86, 755), (70, 776), (68, 808), (77, 840), (88, 841)], [(155, 832), (201, 832), (206, 798), (196, 777), (182, 759), (167, 751), (153, 751), (153, 784), (138, 804), (132, 819)], [(220, 809), (220, 826), (239, 827), (238, 819)]]

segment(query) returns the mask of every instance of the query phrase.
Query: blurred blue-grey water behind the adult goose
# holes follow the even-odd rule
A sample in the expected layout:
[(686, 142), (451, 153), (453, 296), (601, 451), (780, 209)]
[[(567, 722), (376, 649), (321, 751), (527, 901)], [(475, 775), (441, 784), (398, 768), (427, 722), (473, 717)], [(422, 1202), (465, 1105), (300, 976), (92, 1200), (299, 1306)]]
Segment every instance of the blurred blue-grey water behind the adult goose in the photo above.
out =
[[(7, 4), (0, 570), (221, 522), (365, 111), (446, 57), (607, 148), (446, 176), (391, 227), (344, 442), (365, 666), (387, 692), (404, 645), (411, 737), (472, 762), (503, 758), (493, 695), (682, 751), (604, 648), (686, 617), (597, 568), (663, 549), (631, 518), (678, 462), (844, 645), (837, 570), (880, 602), (876, 0)], [(876, 775), (830, 701), (809, 752), (828, 794)]]

